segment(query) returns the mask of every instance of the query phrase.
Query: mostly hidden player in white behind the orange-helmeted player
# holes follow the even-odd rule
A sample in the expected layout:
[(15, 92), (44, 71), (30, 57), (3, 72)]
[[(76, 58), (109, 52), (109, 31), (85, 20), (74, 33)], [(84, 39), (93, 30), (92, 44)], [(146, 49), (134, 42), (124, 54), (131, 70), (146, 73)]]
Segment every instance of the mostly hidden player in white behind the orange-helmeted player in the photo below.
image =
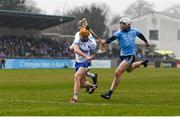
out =
[[(82, 28), (82, 21), (79, 20), (79, 21), (78, 21), (78, 29), (80, 30), (81, 28)], [(91, 33), (89, 34), (89, 38), (95, 41), (95, 39), (93, 38), (93, 36), (91, 35)], [(79, 31), (75, 34), (75, 39), (74, 39), (74, 40), (76, 40), (76, 39), (79, 39)], [(74, 43), (69, 47), (69, 49), (70, 49), (71, 51), (74, 50)], [(89, 70), (90, 70), (90, 69), (89, 69)], [(96, 83), (97, 83), (97, 74), (91, 73), (90, 71), (88, 71), (86, 75), (87, 75), (88, 77), (92, 78), (93, 84), (96, 84)], [(87, 89), (86, 89), (86, 92), (88, 92), (88, 90), (89, 90), (89, 89), (87, 88)]]

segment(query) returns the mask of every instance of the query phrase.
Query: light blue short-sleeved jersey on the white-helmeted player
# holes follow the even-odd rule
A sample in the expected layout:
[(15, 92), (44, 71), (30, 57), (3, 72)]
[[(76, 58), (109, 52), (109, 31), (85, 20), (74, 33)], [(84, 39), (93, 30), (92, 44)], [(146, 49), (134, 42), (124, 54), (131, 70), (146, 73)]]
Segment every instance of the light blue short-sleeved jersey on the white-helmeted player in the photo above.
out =
[(120, 47), (120, 56), (128, 56), (136, 54), (135, 39), (140, 32), (135, 28), (130, 28), (129, 31), (121, 31), (120, 29), (116, 31), (113, 36), (118, 39), (118, 44)]

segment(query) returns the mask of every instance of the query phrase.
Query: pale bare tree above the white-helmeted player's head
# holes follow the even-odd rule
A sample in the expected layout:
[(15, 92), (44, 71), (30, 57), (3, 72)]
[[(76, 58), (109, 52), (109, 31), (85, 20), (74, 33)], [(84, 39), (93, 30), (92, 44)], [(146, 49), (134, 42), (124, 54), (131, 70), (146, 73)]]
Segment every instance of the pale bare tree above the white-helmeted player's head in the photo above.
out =
[(154, 11), (153, 3), (145, 0), (137, 0), (124, 11), (124, 15), (130, 18), (142, 16)]

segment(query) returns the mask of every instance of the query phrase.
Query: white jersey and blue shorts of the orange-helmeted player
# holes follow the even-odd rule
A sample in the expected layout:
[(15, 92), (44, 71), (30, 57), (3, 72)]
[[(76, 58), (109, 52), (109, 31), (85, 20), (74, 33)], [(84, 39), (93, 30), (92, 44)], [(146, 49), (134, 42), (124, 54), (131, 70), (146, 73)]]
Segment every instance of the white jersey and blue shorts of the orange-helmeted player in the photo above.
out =
[[(77, 32), (76, 34), (79, 35), (79, 32)], [(90, 56), (91, 52), (96, 50), (97, 43), (92, 36), (89, 36), (88, 38), (89, 38), (89, 40), (87, 42), (82, 42), (80, 40), (80, 36), (78, 36), (78, 37), (75, 36), (73, 44), (79, 45), (80, 50), (85, 55)], [(75, 53), (75, 61), (76, 61), (76, 64), (75, 64), (76, 71), (80, 67), (87, 68), (87, 67), (91, 66), (91, 61), (87, 61), (85, 57), (80, 56), (79, 54), (76, 54), (76, 53)]]

